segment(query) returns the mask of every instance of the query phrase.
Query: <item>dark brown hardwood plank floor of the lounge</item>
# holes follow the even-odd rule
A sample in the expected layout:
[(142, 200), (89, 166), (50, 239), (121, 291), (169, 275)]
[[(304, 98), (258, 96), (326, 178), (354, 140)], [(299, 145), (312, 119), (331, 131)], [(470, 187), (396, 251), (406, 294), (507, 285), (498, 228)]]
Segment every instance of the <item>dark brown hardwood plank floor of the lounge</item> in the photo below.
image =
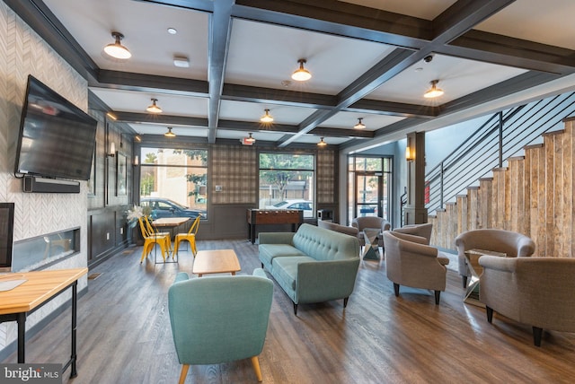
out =
[[(257, 245), (245, 240), (198, 241), (198, 249), (235, 249), (242, 271), (260, 266)], [(179, 264), (139, 264), (131, 248), (93, 268), (89, 292), (78, 302), (78, 383), (175, 383), (181, 366), (173, 348), (167, 289)], [(575, 334), (544, 332), (533, 345), (531, 327), (462, 302), (456, 272), (434, 304), (433, 293), (401, 287), (394, 296), (385, 263), (362, 261), (348, 308), (342, 301), (300, 305), (297, 316), (274, 282), (263, 352), (265, 383), (562, 383), (575, 376)], [(234, 327), (234, 319), (229, 319)], [(27, 343), (27, 361), (64, 362), (69, 355), (69, 310)], [(15, 362), (11, 355), (5, 362)], [(192, 366), (187, 382), (257, 382), (249, 359)]]

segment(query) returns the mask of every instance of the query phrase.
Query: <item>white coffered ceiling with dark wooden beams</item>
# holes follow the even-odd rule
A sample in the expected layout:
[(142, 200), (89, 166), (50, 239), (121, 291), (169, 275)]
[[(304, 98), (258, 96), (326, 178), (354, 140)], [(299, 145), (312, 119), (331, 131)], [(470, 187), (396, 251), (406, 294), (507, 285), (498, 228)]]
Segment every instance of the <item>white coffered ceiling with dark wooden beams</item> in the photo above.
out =
[[(139, 135), (359, 148), (575, 86), (572, 0), (4, 1)], [(128, 60), (103, 53), (112, 31)]]

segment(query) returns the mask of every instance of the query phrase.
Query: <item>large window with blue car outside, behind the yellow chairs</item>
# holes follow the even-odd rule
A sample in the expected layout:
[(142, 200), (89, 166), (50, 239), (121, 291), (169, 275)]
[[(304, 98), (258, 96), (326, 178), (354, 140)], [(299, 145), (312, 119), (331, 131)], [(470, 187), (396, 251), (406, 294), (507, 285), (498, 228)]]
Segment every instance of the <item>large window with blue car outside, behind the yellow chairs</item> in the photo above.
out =
[(207, 217), (208, 150), (142, 148), (140, 203), (152, 216)]

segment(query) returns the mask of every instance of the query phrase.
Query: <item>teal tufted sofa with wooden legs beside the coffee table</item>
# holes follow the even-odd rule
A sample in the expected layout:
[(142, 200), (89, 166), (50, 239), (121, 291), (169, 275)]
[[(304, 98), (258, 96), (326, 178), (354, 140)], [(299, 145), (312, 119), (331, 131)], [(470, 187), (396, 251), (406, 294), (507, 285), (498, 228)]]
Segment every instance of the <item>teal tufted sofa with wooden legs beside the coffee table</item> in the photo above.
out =
[(261, 232), (261, 266), (297, 304), (343, 299), (348, 304), (359, 267), (358, 239), (302, 224), (296, 233)]

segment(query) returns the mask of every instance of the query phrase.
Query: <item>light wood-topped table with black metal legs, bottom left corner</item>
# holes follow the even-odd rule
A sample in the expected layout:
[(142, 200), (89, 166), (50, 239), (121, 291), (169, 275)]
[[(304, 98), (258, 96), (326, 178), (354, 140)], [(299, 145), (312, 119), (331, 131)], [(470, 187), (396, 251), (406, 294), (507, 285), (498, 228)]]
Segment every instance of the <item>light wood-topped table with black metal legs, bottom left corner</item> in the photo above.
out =
[[(75, 378), (76, 350), (76, 302), (78, 279), (88, 273), (88, 268), (57, 269), (14, 273), (15, 279), (24, 279), (25, 283), (11, 291), (0, 292), (0, 323), (16, 321), (18, 323), (18, 362), (25, 362), (24, 345), (26, 342), (26, 317), (58, 294), (72, 287), (72, 352), (70, 360), (64, 364), (62, 373), (71, 367), (70, 377)], [(7, 275), (8, 276), (8, 275)]]

